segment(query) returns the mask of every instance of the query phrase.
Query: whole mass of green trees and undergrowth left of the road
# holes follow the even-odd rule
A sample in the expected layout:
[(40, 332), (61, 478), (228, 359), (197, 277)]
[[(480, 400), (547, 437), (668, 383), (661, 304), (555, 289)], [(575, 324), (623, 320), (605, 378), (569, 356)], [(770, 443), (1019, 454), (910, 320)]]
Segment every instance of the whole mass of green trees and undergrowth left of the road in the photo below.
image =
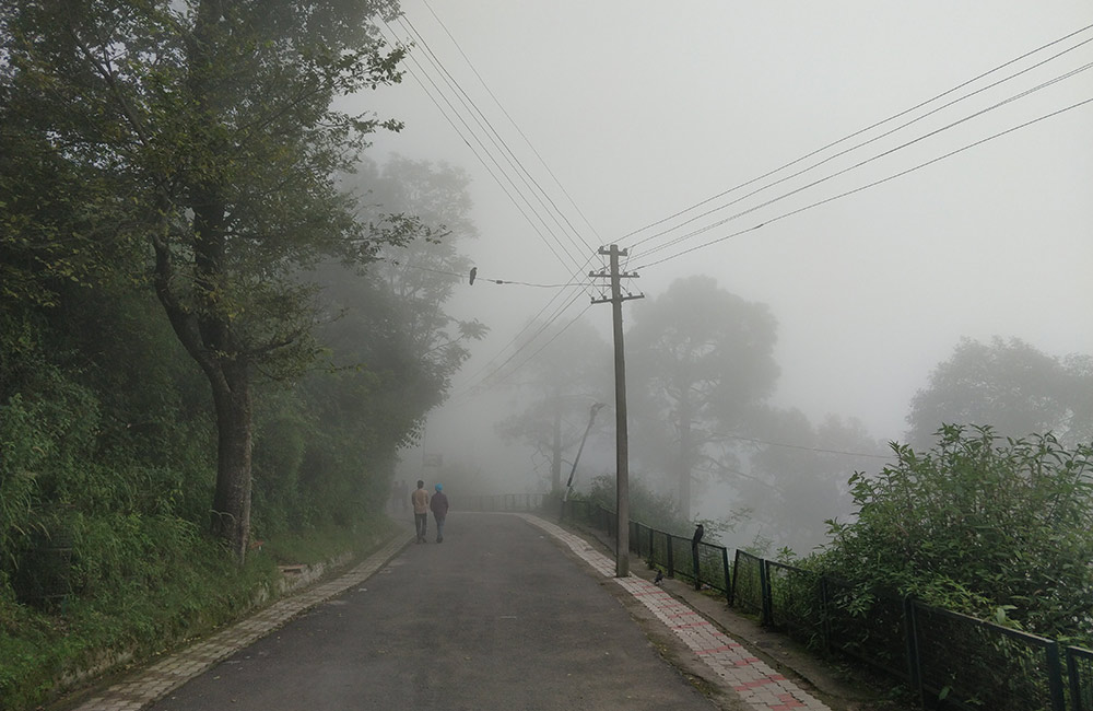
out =
[(387, 532), (485, 333), (444, 311), (466, 176), (361, 163), (398, 121), (331, 108), (398, 81), (395, 12), (0, 12), (0, 710)]

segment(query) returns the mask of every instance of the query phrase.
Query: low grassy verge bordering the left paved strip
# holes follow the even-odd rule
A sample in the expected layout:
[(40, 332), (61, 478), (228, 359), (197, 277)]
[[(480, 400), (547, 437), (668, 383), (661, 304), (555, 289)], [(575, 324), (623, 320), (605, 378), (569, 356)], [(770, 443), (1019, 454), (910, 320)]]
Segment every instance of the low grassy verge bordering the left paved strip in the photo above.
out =
[(352, 531), (285, 535), (265, 541), (243, 567), (219, 541), (193, 535), (185, 545), (146, 549), (156, 559), (134, 564), (125, 580), (45, 606), (22, 604), (0, 585), (0, 711), (58, 701), (246, 616), (256, 601), (271, 603), (279, 563), (365, 555), (393, 532), (383, 517)]

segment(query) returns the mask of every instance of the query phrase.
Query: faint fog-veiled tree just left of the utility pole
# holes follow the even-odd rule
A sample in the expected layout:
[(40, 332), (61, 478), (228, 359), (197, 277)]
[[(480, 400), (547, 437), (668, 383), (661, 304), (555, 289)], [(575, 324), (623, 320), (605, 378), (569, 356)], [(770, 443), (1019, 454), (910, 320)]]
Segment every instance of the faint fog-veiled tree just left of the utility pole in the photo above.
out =
[[(538, 329), (530, 328), (528, 333)], [(540, 462), (550, 465), (551, 491), (560, 491), (563, 464), (573, 462), (588, 428), (595, 403), (613, 403), (611, 397), (611, 351), (600, 335), (585, 320), (565, 330), (548, 331), (549, 341), (531, 361), (503, 374), (514, 392), (516, 411), (497, 423), (503, 438), (532, 447)], [(603, 413), (599, 420), (604, 421)]]

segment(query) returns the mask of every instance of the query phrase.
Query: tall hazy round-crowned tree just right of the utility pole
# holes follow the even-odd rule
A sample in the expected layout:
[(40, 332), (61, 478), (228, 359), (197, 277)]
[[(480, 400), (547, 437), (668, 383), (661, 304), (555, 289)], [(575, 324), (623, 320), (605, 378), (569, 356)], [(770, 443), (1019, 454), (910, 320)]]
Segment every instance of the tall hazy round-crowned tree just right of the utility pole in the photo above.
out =
[[(642, 440), (657, 447), (678, 482), (680, 513), (691, 517), (692, 477), (700, 465), (727, 470), (729, 435), (774, 389), (775, 319), (712, 277), (674, 281), (634, 308), (627, 335), (633, 363), (632, 412)], [(640, 448), (640, 447), (638, 447)], [(657, 456), (646, 452), (646, 457)], [(653, 463), (656, 466), (656, 463)], [(710, 468), (709, 466), (703, 468)]]

